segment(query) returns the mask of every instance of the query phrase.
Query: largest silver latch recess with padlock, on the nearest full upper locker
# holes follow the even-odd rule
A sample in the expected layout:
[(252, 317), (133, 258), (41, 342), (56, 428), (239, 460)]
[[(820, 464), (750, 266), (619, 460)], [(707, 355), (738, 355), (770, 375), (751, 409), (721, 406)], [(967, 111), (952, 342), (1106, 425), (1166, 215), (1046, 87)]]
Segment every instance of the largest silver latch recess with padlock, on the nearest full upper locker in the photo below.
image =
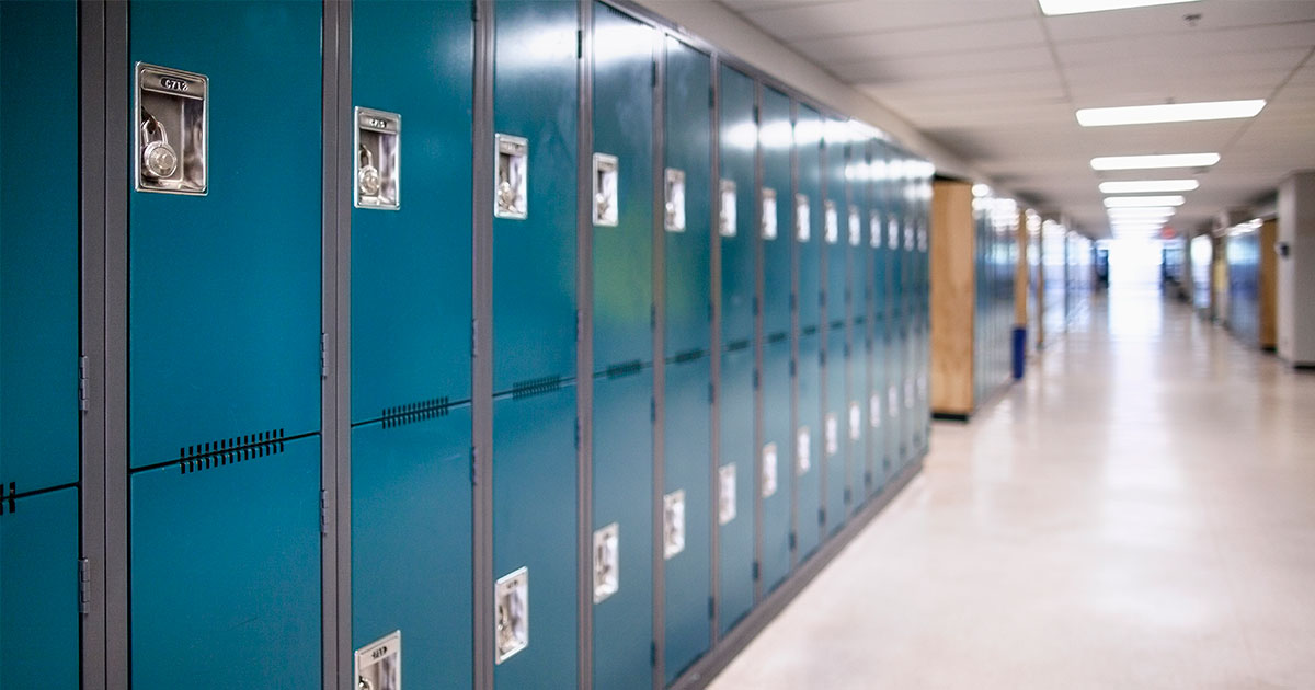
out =
[(135, 189), (204, 196), (209, 79), (139, 62), (134, 92)]

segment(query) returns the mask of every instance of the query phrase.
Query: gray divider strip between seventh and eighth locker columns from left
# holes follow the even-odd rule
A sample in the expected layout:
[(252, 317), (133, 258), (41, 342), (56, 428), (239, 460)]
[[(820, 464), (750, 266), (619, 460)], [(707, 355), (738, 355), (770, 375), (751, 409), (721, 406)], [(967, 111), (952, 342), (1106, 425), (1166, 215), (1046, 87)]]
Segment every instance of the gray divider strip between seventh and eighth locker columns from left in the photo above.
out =
[[(763, 85), (753, 84), (753, 125), (763, 126)], [(753, 605), (763, 601), (763, 141), (753, 138)]]

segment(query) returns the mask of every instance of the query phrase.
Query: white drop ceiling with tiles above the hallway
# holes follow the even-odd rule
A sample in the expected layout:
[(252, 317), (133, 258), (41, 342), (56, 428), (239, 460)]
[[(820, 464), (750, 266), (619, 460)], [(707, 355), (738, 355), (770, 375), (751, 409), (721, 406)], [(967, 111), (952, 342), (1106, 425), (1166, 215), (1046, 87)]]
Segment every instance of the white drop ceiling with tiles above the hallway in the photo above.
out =
[[(1315, 168), (1315, 0), (1202, 0), (1045, 17), (1036, 0), (719, 0), (1091, 237), (1103, 180), (1194, 176), (1191, 230)], [(1194, 17), (1193, 17), (1194, 16)], [(1078, 108), (1268, 99), (1253, 120), (1081, 127)], [(1098, 155), (1218, 151), (1197, 171)]]

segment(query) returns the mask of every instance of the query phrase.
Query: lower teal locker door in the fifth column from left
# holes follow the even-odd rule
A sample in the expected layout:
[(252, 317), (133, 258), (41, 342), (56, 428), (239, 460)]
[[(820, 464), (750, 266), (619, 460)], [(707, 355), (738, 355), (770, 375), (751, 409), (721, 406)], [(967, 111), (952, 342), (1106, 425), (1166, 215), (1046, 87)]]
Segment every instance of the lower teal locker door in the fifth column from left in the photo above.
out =
[(652, 390), (651, 369), (593, 382), (597, 690), (652, 683)]

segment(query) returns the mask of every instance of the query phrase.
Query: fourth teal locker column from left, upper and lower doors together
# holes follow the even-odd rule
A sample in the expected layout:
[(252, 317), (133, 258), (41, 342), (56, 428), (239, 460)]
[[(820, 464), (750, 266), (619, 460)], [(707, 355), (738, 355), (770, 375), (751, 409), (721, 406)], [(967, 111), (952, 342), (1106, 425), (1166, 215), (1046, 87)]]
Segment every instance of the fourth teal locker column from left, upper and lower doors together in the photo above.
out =
[[(575, 687), (576, 3), (493, 4), (493, 681)], [(533, 627), (531, 627), (533, 624)]]

